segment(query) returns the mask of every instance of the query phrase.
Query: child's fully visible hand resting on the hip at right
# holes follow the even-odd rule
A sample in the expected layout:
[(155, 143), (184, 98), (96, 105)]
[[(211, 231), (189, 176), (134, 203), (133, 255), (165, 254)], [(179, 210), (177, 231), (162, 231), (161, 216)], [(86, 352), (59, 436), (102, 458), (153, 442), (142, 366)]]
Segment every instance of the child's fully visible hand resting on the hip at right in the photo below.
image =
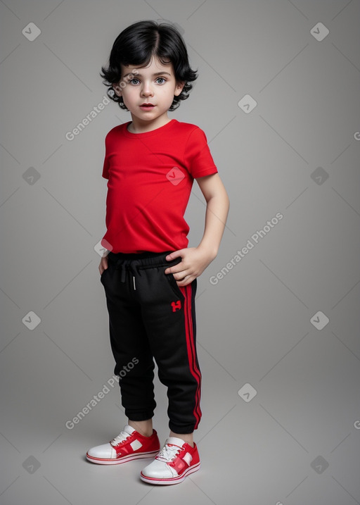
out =
[(187, 247), (179, 249), (166, 256), (167, 261), (181, 257), (180, 263), (170, 266), (165, 270), (165, 273), (172, 273), (178, 286), (186, 286), (203, 273), (205, 268), (210, 265), (214, 259), (214, 254), (211, 254), (206, 249), (199, 247)]

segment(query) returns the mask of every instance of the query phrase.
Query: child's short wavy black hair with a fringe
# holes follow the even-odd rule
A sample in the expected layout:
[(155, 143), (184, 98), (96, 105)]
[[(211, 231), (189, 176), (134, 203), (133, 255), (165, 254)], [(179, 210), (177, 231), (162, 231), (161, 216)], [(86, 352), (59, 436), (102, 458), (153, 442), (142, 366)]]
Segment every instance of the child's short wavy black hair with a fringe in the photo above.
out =
[(188, 51), (179, 31), (169, 23), (158, 24), (153, 20), (138, 21), (118, 35), (110, 52), (108, 68), (101, 67), (103, 73), (100, 75), (104, 79), (103, 84), (108, 86), (108, 97), (117, 101), (124, 111), (128, 108), (122, 96), (117, 96), (111, 86), (121, 79), (121, 64), (146, 67), (153, 56), (157, 56), (162, 65), (172, 63), (176, 82), (185, 82), (179, 96), (174, 96), (169, 111), (174, 111), (179, 107), (180, 100), (188, 98), (193, 88), (190, 83), (195, 81), (198, 75), (197, 70), (191, 69)]

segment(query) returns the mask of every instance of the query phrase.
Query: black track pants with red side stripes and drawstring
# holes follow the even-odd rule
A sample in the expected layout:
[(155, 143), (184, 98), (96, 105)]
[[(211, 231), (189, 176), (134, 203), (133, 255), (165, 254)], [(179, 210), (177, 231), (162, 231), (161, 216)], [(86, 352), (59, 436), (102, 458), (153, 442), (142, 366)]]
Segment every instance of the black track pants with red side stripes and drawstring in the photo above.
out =
[(108, 254), (101, 275), (109, 313), (110, 344), (125, 415), (152, 418), (154, 368), (167, 386), (169, 428), (191, 433), (200, 422), (201, 373), (195, 344), (196, 279), (179, 287), (166, 268), (169, 252)]

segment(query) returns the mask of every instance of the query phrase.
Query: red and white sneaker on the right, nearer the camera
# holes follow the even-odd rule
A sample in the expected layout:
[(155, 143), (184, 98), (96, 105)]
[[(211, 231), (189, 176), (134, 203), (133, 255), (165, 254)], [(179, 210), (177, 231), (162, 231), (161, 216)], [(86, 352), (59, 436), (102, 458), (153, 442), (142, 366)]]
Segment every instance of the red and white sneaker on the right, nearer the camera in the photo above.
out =
[(198, 447), (181, 438), (169, 437), (155, 460), (143, 468), (141, 480), (150, 484), (178, 484), (200, 468)]

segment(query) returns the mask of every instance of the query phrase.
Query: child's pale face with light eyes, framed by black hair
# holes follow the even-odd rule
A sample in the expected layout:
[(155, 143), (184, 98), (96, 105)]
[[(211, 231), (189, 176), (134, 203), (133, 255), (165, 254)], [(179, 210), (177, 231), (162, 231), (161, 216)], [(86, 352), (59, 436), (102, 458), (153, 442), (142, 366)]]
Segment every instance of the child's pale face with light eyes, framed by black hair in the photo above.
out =
[(172, 63), (162, 65), (158, 58), (152, 58), (146, 68), (122, 65), (122, 79), (113, 88), (117, 96), (122, 96), (133, 118), (151, 121), (167, 116), (174, 95), (179, 96), (184, 85), (176, 83)]

